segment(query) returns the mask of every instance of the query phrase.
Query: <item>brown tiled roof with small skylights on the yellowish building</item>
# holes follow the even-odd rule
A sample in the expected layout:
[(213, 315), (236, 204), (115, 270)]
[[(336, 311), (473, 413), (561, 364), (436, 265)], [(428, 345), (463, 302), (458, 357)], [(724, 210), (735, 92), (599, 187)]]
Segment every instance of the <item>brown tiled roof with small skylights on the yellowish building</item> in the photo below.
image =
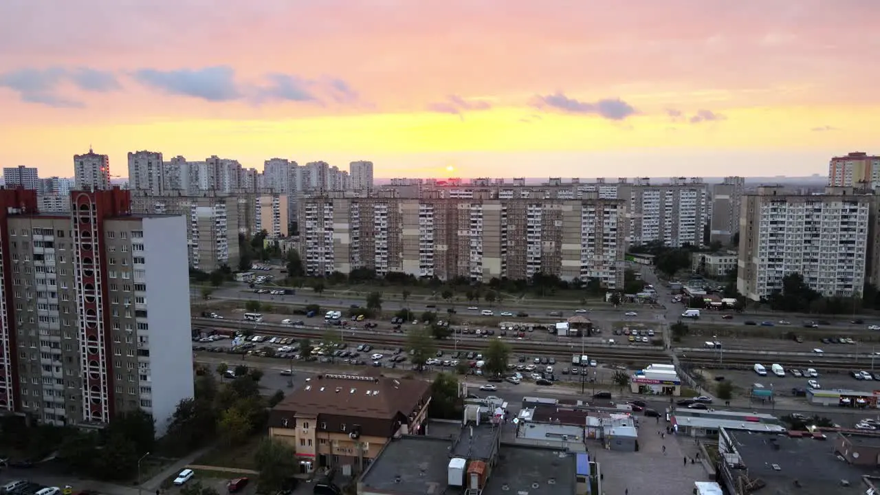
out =
[(318, 375), (275, 406), (300, 416), (332, 414), (349, 417), (408, 416), (430, 396), (430, 383), (360, 375)]

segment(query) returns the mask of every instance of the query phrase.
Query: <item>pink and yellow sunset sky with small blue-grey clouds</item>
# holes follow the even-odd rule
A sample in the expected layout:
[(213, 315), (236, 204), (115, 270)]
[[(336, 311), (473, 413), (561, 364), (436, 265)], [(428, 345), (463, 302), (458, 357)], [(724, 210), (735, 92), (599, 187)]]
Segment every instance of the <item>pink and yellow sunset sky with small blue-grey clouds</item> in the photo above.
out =
[(878, 0), (4, 0), (0, 166), (92, 146), (378, 177), (826, 174)]

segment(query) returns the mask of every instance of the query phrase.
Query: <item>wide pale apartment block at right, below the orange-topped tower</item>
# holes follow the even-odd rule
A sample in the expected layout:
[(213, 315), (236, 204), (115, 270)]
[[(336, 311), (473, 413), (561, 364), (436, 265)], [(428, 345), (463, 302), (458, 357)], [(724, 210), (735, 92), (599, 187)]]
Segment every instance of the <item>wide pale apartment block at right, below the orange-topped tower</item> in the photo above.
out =
[(796, 272), (824, 296), (861, 296), (874, 203), (874, 196), (789, 195), (780, 187), (743, 196), (737, 290), (763, 299)]

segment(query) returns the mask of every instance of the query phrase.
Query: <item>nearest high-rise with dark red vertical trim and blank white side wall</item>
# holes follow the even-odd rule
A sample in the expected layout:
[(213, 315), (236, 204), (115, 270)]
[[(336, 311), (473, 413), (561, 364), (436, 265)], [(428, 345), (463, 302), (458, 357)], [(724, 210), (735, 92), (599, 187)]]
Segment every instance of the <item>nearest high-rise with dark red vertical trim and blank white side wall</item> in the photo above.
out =
[(70, 214), (0, 191), (0, 410), (97, 425), (143, 409), (159, 434), (193, 396), (187, 223), (74, 191)]

